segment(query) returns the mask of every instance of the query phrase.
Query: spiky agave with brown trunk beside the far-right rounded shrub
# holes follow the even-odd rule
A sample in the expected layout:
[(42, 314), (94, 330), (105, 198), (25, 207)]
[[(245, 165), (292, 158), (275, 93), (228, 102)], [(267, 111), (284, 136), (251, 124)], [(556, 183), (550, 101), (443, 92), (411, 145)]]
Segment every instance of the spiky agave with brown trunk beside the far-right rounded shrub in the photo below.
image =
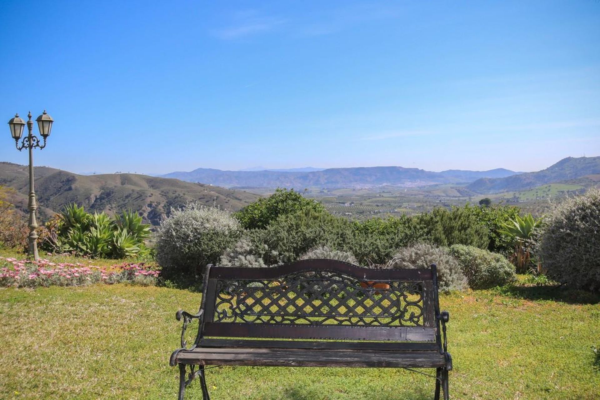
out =
[(510, 258), (517, 267), (517, 272), (524, 273), (529, 269), (532, 263), (531, 243), (541, 224), (542, 218), (536, 220), (530, 213), (523, 218), (517, 215), (515, 219), (511, 219), (510, 224), (503, 224), (504, 229), (500, 233), (506, 235), (514, 245), (515, 251)]

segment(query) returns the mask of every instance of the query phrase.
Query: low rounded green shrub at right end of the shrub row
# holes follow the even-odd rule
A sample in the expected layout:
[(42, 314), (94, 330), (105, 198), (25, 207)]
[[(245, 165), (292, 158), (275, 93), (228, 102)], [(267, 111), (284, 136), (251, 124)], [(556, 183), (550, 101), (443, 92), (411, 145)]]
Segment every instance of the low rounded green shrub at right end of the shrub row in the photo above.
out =
[(502, 254), (474, 246), (450, 246), (450, 254), (458, 264), (472, 289), (502, 286), (516, 279), (515, 266)]

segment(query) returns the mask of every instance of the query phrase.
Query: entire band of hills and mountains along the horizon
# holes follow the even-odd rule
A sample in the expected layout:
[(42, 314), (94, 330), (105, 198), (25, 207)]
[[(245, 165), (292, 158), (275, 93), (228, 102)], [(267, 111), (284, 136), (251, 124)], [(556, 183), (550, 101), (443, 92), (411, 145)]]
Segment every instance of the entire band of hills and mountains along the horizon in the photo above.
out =
[[(523, 191), (554, 183), (589, 188), (598, 186), (598, 182), (600, 157), (568, 157), (547, 169), (527, 173), (506, 169), (431, 172), (404, 167), (361, 167), (310, 172), (197, 169), (155, 177), (130, 173), (77, 175), (50, 167), (35, 167), (35, 189), (41, 219), (58, 212), (65, 204), (74, 202), (82, 204), (91, 212), (136, 210), (142, 214), (145, 221), (154, 225), (167, 215), (171, 207), (180, 207), (190, 201), (238, 210), (259, 197), (256, 194), (223, 187), (285, 187), (302, 190), (443, 185), (436, 188), (436, 191), (456, 193), (457, 196), (475, 196)], [(25, 212), (29, 191), (28, 167), (0, 162), (0, 185), (16, 190), (14, 203)]]

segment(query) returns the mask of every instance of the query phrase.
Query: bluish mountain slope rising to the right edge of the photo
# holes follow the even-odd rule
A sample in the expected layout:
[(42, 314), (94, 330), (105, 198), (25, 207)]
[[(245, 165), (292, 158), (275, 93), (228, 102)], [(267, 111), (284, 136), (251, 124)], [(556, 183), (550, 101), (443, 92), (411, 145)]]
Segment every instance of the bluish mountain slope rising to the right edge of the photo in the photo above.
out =
[(505, 178), (481, 178), (467, 185), (467, 189), (481, 194), (519, 191), (596, 174), (600, 174), (600, 157), (567, 157), (538, 172), (521, 173)]

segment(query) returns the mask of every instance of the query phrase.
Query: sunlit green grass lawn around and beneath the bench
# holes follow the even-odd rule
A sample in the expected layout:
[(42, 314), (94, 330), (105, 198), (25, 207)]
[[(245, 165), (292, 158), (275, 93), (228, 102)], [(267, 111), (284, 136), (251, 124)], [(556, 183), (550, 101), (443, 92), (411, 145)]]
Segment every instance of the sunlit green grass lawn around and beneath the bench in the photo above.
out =
[[(196, 311), (200, 297), (129, 285), (0, 289), (0, 398), (175, 399), (175, 311)], [(440, 302), (451, 315), (452, 398), (600, 398), (598, 297), (518, 286)], [(214, 400), (430, 399), (434, 388), (401, 369), (219, 367), (207, 379)], [(202, 398), (196, 382), (186, 398)]]

